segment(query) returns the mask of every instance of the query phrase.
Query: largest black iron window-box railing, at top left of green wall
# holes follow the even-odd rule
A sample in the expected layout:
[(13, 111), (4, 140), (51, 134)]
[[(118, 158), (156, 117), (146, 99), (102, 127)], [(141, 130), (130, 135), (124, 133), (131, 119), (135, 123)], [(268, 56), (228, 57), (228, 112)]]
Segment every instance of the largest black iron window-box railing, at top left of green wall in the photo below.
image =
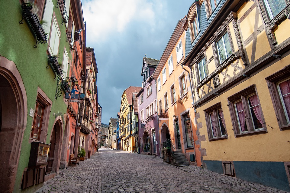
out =
[(23, 19), (26, 19), (29, 24), (31, 25), (32, 30), (34, 31), (37, 39), (34, 48), (37, 48), (37, 44), (46, 44), (47, 43), (47, 34), (44, 32), (40, 21), (37, 17), (36, 13), (32, 12), (32, 5), (30, 3), (22, 3), (21, 8), (23, 10), (23, 17), (22, 20), (19, 22), (23, 24)]

